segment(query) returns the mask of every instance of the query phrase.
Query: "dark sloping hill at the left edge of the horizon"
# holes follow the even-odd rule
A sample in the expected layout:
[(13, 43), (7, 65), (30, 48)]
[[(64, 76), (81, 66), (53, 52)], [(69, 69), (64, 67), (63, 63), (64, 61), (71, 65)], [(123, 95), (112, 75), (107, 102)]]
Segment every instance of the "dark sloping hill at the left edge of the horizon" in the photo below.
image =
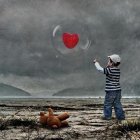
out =
[(30, 96), (30, 94), (22, 89), (0, 83), (0, 96)]

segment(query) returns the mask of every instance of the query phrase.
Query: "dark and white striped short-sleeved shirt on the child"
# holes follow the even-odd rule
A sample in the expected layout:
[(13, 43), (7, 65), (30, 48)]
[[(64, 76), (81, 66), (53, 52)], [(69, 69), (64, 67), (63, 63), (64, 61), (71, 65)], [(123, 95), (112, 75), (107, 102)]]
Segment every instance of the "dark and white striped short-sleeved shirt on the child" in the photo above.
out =
[(103, 72), (106, 75), (105, 91), (121, 90), (120, 69), (117, 67), (104, 68)]

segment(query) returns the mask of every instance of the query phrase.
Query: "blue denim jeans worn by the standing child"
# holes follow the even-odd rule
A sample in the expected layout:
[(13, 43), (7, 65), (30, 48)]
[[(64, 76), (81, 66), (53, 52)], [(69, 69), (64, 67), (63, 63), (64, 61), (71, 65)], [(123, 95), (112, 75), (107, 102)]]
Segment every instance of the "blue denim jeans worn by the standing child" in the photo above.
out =
[(125, 114), (121, 104), (121, 90), (106, 91), (104, 101), (104, 117), (111, 118), (112, 107), (114, 107), (115, 115), (118, 120), (125, 119)]

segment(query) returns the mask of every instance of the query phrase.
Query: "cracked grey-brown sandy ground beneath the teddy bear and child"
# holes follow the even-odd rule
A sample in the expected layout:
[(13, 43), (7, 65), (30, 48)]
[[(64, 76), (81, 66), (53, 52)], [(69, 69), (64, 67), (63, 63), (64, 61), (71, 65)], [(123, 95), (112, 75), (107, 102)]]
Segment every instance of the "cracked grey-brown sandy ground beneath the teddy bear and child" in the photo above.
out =
[[(137, 129), (118, 129), (113, 118), (101, 120), (103, 98), (1, 99), (0, 140), (114, 140), (140, 139)], [(122, 99), (126, 120), (140, 118), (140, 99)], [(69, 126), (50, 129), (39, 123), (39, 113), (51, 107), (55, 114), (68, 112)], [(18, 121), (20, 120), (20, 121)]]

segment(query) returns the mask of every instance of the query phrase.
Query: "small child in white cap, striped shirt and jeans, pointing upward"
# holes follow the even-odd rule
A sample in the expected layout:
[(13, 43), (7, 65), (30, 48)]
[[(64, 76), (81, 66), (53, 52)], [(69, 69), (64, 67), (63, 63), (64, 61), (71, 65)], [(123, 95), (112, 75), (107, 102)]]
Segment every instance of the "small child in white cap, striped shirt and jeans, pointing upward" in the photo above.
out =
[(94, 60), (95, 67), (98, 71), (106, 75), (105, 100), (104, 100), (104, 116), (103, 120), (110, 120), (112, 116), (112, 106), (118, 120), (124, 120), (125, 114), (121, 104), (121, 87), (120, 87), (120, 65), (121, 58), (117, 54), (108, 56), (106, 68), (102, 68), (97, 60)]

